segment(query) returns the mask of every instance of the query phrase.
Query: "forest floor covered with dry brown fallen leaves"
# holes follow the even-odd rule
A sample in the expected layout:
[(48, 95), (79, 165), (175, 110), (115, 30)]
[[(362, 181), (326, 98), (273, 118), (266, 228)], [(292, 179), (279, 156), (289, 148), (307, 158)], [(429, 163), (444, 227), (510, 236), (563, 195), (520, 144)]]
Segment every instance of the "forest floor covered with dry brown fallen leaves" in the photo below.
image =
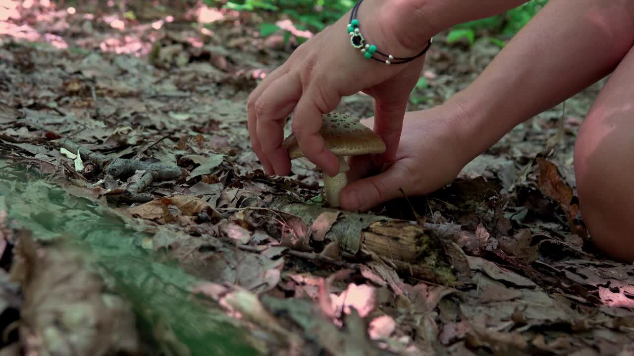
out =
[[(436, 193), (342, 212), (311, 163), (268, 177), (250, 148), (247, 97), (294, 37), (27, 3), (0, 2), (0, 355), (634, 355), (634, 267), (592, 248), (574, 185), (604, 81)], [(439, 35), (409, 110), (499, 51)]]

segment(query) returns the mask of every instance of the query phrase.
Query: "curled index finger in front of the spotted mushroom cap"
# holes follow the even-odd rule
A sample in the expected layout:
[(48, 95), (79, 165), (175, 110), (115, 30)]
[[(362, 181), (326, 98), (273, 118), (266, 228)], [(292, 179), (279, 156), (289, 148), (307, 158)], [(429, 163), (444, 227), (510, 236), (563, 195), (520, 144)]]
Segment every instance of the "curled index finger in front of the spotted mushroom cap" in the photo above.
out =
[(321, 115), (334, 110), (340, 100), (336, 93), (323, 94), (318, 87), (310, 87), (295, 107), (292, 124), (299, 148), (306, 158), (331, 177), (339, 172), (339, 160), (326, 148), (321, 137)]

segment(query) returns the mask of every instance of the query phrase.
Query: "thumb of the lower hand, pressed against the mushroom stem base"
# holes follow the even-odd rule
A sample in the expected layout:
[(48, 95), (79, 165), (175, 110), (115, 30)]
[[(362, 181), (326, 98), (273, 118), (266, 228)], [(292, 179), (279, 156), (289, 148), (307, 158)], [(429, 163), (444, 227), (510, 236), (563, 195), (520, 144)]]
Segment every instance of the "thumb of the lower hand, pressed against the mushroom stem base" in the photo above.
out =
[(379, 175), (352, 182), (339, 194), (339, 203), (344, 210), (365, 211), (394, 198), (399, 198), (400, 189), (408, 190), (407, 175), (392, 166)]

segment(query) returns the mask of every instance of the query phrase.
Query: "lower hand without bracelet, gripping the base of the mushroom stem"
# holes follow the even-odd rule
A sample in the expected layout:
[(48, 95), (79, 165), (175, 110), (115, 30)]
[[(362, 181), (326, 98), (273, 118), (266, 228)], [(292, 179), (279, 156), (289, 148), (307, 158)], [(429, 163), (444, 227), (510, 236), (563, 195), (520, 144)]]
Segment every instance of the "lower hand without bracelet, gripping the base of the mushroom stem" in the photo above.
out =
[[(380, 163), (372, 155), (350, 159), (351, 182), (339, 195), (345, 210), (365, 211), (394, 198), (428, 194), (453, 181), (477, 155), (461, 144), (454, 127), (461, 122), (446, 105), (406, 113), (401, 144), (392, 162)], [(363, 120), (372, 126), (373, 118)], [(380, 170), (380, 174), (367, 177)], [(365, 179), (360, 179), (367, 177)]]

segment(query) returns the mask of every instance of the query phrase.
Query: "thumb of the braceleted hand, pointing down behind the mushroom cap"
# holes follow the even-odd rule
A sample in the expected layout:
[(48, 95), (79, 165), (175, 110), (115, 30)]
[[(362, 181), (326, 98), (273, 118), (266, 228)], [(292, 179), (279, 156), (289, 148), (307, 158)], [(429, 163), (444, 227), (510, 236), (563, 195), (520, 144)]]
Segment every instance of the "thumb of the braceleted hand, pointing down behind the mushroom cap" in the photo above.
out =
[(392, 162), (396, 157), (406, 108), (407, 102), (384, 103), (378, 99), (375, 102), (374, 132), (383, 139), (387, 148), (380, 155), (383, 162)]

